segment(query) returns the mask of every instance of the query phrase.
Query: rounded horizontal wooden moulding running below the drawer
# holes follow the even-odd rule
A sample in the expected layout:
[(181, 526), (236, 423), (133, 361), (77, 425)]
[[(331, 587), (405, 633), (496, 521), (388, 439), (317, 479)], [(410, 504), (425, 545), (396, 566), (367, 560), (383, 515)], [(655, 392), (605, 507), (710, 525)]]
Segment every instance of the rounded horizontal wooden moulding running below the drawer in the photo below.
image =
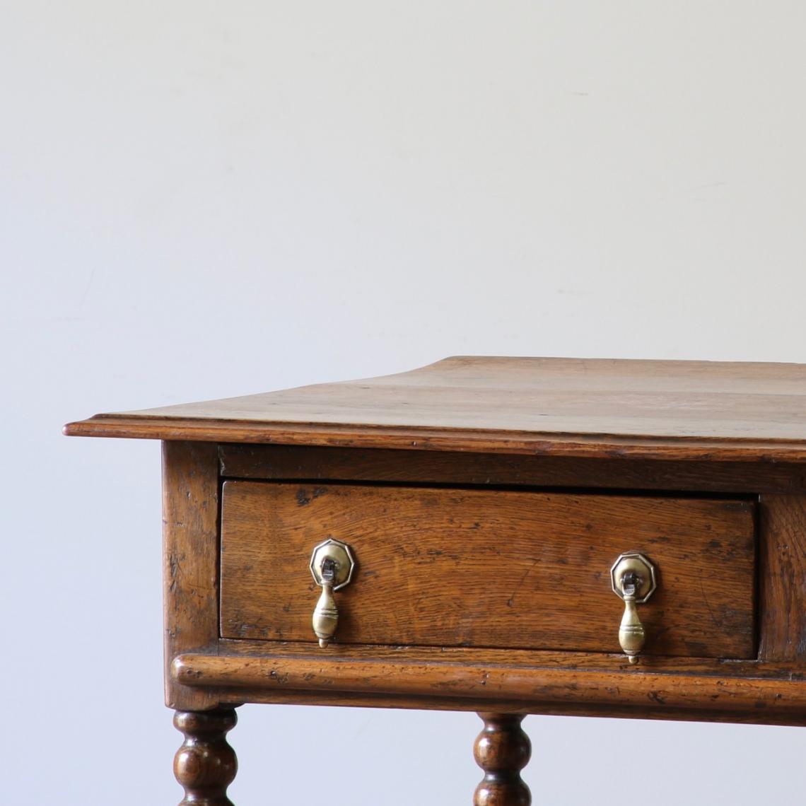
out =
[[(368, 648), (370, 649), (370, 648)], [(172, 664), (172, 675), (188, 686), (222, 688), (276, 688), (294, 692), (370, 692), (416, 698), (476, 698), (498, 708), (501, 701), (555, 703), (563, 707), (612, 706), (682, 708), (706, 711), (806, 713), (803, 679), (767, 679), (730, 675), (660, 674), (635, 669), (541, 668), (439, 662), (423, 663), (417, 654), (399, 659), (341, 657), (297, 652), (237, 658), (182, 654)]]

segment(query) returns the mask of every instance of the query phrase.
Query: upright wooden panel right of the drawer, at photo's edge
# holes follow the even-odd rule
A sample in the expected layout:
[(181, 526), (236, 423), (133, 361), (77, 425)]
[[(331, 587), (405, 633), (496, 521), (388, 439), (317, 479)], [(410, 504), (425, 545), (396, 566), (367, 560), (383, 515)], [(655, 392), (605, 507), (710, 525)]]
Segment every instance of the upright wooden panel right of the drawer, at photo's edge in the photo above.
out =
[(762, 496), (758, 656), (806, 662), (806, 496)]

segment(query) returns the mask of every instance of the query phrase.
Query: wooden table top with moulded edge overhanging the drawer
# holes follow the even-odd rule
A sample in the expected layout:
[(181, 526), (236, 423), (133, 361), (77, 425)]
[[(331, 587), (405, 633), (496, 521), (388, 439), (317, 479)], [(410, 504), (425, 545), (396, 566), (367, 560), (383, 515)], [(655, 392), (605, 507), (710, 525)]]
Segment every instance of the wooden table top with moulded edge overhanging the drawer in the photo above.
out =
[(78, 436), (643, 459), (806, 459), (806, 365), (454, 356), (367, 380), (98, 414)]

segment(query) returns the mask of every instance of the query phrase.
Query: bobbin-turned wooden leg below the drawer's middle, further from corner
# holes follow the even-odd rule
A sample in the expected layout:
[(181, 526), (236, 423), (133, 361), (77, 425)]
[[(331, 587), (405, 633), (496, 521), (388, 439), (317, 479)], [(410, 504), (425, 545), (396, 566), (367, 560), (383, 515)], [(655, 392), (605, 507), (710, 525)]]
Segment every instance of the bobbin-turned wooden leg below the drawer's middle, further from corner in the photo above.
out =
[(480, 713), (484, 728), (476, 738), (473, 755), (484, 770), (476, 787), (473, 806), (530, 806), (529, 787), (521, 770), (529, 763), (532, 745), (521, 729), (523, 717), (505, 713)]

